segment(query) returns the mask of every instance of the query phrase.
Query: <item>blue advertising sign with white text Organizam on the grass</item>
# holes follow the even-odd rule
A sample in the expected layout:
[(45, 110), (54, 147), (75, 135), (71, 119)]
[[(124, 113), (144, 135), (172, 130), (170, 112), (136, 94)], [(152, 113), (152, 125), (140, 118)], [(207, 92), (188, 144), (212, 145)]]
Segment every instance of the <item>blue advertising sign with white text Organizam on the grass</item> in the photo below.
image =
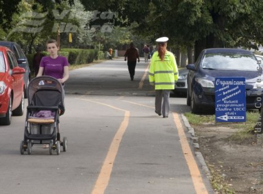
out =
[(246, 121), (246, 90), (244, 77), (215, 79), (216, 122)]

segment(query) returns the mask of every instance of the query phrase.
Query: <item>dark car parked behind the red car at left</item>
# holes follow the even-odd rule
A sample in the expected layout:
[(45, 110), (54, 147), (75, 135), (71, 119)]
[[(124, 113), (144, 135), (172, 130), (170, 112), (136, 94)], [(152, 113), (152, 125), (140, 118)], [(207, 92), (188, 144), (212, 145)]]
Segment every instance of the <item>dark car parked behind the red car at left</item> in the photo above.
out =
[(18, 66), (23, 67), (25, 69), (24, 74), (24, 83), (25, 83), (25, 98), (27, 98), (27, 86), (30, 82), (30, 68), (27, 61), (27, 57), (25, 56), (25, 53), (21, 49), (21, 47), (15, 43), (15, 42), (9, 42), (9, 41), (0, 41), (0, 46), (8, 47), (14, 54), (15, 58), (17, 60)]

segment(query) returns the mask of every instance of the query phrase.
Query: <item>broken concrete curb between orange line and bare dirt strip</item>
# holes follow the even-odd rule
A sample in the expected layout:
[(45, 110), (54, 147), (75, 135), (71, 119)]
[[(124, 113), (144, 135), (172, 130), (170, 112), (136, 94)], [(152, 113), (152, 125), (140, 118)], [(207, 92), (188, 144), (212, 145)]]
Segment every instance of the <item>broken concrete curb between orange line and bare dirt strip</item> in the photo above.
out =
[[(191, 134), (191, 140), (192, 140), (192, 144), (193, 144), (193, 147), (197, 150), (199, 150), (199, 144), (198, 144), (198, 137), (195, 137), (195, 131), (194, 131), (194, 128), (191, 127), (191, 125), (189, 124), (186, 116), (184, 116), (184, 114), (181, 114), (181, 117), (184, 121), (184, 125), (188, 128), (188, 133)], [(195, 151), (195, 155), (196, 157), (198, 158), (198, 161), (201, 165), (201, 169), (205, 172), (207, 178), (210, 180), (212, 178), (211, 174), (210, 174), (210, 171), (205, 163), (205, 160), (203, 158), (203, 155), (201, 152), (199, 151)]]

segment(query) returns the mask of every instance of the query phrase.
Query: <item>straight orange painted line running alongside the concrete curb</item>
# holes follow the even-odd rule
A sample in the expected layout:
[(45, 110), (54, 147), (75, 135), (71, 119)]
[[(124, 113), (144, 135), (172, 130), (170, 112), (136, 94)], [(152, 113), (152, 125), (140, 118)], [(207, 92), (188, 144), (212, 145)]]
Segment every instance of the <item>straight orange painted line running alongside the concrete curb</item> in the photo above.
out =
[(190, 148), (188, 141), (186, 139), (186, 135), (184, 133), (184, 128), (183, 128), (182, 123), (179, 119), (179, 116), (177, 113), (173, 113), (173, 116), (174, 116), (174, 123), (177, 127), (177, 130), (178, 130), (178, 135), (180, 138), (184, 157), (186, 159), (186, 163), (188, 165), (188, 168), (189, 168), (192, 180), (193, 180), (193, 184), (194, 184), (196, 194), (208, 194), (207, 189), (205, 187), (205, 184), (203, 182), (202, 176), (201, 176), (200, 171), (198, 169), (198, 166), (197, 166), (195, 159), (193, 157), (191, 148)]

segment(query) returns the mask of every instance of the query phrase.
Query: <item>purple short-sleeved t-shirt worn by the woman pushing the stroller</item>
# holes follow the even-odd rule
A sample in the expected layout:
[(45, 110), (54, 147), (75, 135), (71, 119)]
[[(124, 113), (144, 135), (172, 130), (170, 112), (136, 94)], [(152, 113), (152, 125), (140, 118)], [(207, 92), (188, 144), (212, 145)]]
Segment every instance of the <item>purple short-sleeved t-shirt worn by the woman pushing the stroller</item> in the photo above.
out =
[(64, 67), (69, 66), (66, 57), (58, 56), (56, 59), (51, 57), (42, 57), (39, 67), (44, 67), (44, 75), (57, 79), (62, 79)]

